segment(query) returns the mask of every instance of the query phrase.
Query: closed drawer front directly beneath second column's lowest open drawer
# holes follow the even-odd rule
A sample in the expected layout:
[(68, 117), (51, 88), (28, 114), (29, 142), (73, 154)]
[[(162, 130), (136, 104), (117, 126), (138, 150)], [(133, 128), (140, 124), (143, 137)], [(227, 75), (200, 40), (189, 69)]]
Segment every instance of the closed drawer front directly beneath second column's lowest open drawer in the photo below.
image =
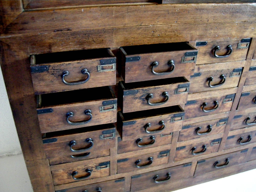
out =
[(122, 141), (118, 138), (117, 153), (126, 153), (130, 151), (142, 150), (145, 148), (167, 145), (172, 142), (173, 133), (167, 135), (151, 135), (147, 137), (136, 138), (134, 140)]

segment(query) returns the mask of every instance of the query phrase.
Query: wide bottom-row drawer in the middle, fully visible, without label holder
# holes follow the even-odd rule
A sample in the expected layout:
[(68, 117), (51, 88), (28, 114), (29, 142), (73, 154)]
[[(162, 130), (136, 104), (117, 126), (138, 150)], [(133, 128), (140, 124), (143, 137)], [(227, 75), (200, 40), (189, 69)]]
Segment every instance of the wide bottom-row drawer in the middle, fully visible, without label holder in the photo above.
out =
[(192, 163), (160, 169), (139, 175), (133, 175), (131, 179), (131, 191), (161, 186), (175, 180), (189, 177)]

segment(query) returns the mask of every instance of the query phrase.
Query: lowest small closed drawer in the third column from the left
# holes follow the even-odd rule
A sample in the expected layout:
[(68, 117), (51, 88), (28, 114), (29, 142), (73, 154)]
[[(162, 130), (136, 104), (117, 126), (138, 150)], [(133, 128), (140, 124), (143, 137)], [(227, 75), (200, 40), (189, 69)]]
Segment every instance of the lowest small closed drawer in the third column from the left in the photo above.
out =
[(178, 144), (176, 148), (174, 161), (191, 158), (198, 155), (205, 155), (217, 152), (220, 146), (221, 138), (214, 140), (202, 141), (200, 143), (192, 143), (185, 146)]

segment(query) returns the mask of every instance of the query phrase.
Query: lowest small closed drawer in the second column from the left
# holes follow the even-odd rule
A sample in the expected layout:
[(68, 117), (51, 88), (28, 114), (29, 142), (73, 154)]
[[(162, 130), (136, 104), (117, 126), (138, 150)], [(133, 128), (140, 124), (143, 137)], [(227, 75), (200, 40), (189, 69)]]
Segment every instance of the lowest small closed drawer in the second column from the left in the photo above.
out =
[(117, 173), (126, 173), (168, 163), (170, 149), (117, 160)]

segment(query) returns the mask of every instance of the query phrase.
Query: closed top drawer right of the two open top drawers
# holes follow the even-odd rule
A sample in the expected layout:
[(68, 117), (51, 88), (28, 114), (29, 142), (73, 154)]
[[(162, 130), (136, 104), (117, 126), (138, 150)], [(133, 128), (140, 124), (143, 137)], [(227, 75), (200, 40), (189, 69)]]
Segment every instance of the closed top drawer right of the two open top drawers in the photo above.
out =
[(250, 41), (250, 38), (198, 41), (196, 64), (245, 60)]

